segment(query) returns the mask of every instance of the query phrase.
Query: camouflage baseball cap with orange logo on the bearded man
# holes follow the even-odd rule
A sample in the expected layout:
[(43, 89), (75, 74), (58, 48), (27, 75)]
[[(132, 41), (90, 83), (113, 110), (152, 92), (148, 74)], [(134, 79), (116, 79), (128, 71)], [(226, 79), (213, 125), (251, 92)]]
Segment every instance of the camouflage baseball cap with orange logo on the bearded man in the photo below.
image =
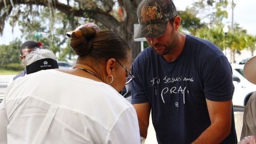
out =
[(139, 25), (134, 37), (159, 37), (166, 29), (168, 20), (177, 16), (172, 0), (142, 0), (137, 8)]

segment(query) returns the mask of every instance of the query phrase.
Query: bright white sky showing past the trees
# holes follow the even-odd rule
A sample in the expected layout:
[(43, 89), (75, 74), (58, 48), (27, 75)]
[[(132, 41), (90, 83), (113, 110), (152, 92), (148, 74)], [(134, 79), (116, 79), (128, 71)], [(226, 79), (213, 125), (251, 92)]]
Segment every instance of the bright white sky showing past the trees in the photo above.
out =
[[(190, 6), (193, 2), (197, 0), (173, 0), (177, 7), (177, 10), (185, 10), (186, 7)], [(232, 0), (229, 0), (231, 3)], [(256, 1), (255, 0), (233, 0), (236, 7), (233, 11), (234, 23), (239, 23), (240, 27), (247, 30), (248, 34), (256, 36)], [(8, 22), (6, 22), (8, 24)], [(231, 25), (231, 8), (229, 6), (228, 18), (226, 19), (226, 25)], [(18, 26), (14, 28), (12, 33), (12, 28), (9, 25), (5, 26), (4, 33), (0, 36), (0, 44), (9, 44), (10, 41), (14, 40), (16, 37), (22, 37)]]

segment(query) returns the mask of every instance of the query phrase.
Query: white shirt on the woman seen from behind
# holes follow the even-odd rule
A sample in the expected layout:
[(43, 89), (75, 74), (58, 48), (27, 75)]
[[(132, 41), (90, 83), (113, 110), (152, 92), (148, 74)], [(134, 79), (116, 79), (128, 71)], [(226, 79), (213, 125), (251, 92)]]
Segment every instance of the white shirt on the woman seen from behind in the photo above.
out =
[(113, 87), (57, 70), (16, 79), (0, 105), (0, 143), (140, 143), (137, 114)]

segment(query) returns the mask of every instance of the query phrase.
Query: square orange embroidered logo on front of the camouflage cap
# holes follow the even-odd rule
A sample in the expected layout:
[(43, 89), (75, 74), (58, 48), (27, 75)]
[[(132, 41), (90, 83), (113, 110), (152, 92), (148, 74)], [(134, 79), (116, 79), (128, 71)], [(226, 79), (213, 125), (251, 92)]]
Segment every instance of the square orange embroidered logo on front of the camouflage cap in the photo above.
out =
[(141, 21), (156, 19), (155, 7), (142, 7), (140, 11)]

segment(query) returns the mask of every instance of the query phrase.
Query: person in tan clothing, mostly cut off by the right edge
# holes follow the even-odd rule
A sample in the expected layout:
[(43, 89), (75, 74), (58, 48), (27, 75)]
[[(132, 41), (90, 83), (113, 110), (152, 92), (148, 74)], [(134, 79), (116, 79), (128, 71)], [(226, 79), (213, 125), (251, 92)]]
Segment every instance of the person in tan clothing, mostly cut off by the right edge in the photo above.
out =
[[(256, 84), (256, 56), (245, 63), (244, 76), (249, 82)], [(241, 139), (250, 135), (256, 136), (256, 91), (251, 94), (244, 109)]]

